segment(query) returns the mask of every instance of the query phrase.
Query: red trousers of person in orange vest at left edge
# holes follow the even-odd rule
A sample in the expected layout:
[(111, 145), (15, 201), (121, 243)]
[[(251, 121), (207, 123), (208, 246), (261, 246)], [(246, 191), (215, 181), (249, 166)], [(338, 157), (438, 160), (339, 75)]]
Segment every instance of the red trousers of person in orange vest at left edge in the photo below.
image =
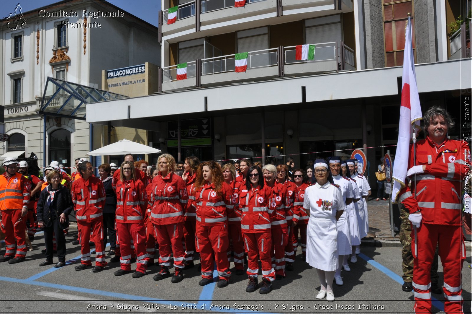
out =
[[(26, 256), (25, 221), (21, 217), (21, 209), (1, 211), (1, 230), (5, 234), (5, 256), (23, 258)], [(17, 253), (15, 254), (15, 246)]]

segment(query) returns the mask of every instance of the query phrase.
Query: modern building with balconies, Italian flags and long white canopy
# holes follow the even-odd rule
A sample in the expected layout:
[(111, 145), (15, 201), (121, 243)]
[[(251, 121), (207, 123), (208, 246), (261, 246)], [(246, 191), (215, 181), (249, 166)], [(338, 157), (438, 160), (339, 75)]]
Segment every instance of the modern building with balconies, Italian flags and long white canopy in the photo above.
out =
[[(408, 13), (423, 111), (440, 105), (459, 116), (470, 95), (470, 31), (450, 26), (470, 1), (457, 2), (163, 0), (160, 93), (113, 101), (107, 118), (151, 131), (179, 158), (291, 156), (303, 167), (364, 148), (373, 174), (395, 152)], [(314, 60), (296, 60), (301, 44), (315, 45)], [(247, 69), (236, 72), (242, 52)], [(87, 121), (107, 123), (107, 106), (88, 106)]]

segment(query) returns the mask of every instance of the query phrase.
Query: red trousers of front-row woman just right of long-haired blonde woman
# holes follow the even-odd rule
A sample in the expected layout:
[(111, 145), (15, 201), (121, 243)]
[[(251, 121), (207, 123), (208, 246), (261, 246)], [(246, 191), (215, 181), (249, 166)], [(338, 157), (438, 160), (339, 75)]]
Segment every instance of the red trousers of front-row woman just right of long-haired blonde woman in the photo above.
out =
[[(154, 232), (159, 244), (159, 265), (170, 266), (170, 252), (174, 254), (174, 267), (184, 268), (184, 224), (154, 225)], [(171, 247), (172, 246), (172, 247)]]

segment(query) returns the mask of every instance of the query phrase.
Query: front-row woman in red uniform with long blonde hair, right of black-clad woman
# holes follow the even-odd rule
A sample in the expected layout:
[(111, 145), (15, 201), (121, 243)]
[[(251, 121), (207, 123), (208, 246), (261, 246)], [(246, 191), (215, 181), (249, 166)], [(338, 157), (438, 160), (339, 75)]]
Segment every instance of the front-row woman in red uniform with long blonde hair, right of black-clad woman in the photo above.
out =
[(146, 227), (147, 194), (144, 184), (136, 178), (134, 165), (131, 161), (124, 161), (120, 167), (119, 181), (117, 182), (117, 210), (116, 225), (120, 244), (120, 266), (115, 276), (130, 273), (131, 270), (131, 240), (136, 249), (136, 271), (133, 278), (140, 278), (146, 274)]

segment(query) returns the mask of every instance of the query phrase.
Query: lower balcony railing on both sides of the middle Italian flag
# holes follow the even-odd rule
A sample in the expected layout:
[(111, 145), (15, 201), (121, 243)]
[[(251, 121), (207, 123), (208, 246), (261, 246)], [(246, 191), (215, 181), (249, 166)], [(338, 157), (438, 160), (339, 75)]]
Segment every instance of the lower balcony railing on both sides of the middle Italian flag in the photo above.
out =
[[(252, 51), (247, 54), (247, 70), (278, 65), (277, 48)], [(202, 75), (211, 75), (235, 70), (235, 55), (202, 59)]]

